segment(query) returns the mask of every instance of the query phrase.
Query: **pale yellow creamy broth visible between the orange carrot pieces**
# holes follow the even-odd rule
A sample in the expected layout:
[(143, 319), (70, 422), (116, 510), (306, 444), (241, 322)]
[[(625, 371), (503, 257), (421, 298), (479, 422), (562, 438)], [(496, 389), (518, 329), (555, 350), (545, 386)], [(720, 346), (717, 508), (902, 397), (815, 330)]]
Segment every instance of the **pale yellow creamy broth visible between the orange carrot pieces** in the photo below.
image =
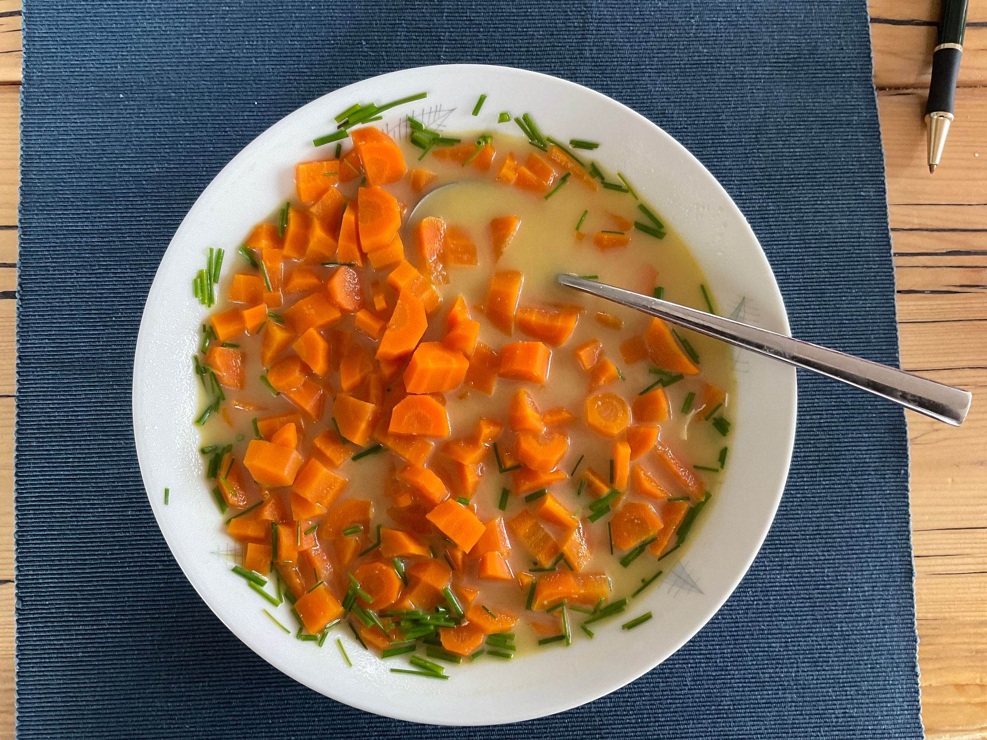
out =
[[(464, 141), (469, 141), (477, 135), (466, 133), (462, 134), (462, 138)], [(422, 218), (439, 217), (447, 226), (462, 228), (477, 247), (477, 264), (447, 265), (448, 283), (436, 285), (442, 298), (441, 306), (428, 317), (428, 328), (421, 340), (436, 342), (442, 340), (446, 332), (446, 313), (453, 300), (460, 295), (465, 298), (472, 318), (480, 321), (479, 339), (484, 344), (499, 350), (505, 343), (530, 339), (531, 337), (520, 332), (517, 327), (508, 336), (497, 330), (485, 317), (484, 306), (492, 275), (501, 270), (518, 270), (524, 276), (519, 308), (544, 304), (569, 304), (580, 306), (583, 311), (565, 344), (551, 347), (551, 364), (546, 383), (533, 384), (499, 378), (493, 395), (486, 395), (465, 383), (445, 393), (445, 406), (451, 432), (447, 438), (432, 440), (435, 443), (434, 450), (426, 466), (433, 469), (446, 482), (453, 497), (464, 496), (464, 491), (457, 490), (455, 476), (448, 468), (449, 460), (442, 453), (442, 446), (446, 441), (468, 438), (474, 434), (481, 417), (493, 418), (504, 424), (504, 430), (496, 440), (497, 451), (509, 458), (513, 448), (511, 441), (513, 434), (507, 424), (507, 409), (518, 388), (526, 388), (543, 413), (556, 408), (568, 409), (574, 418), (569, 423), (556, 427), (564, 430), (569, 436), (569, 447), (558, 469), (567, 475), (576, 469), (575, 476), (549, 485), (548, 491), (576, 518), (582, 520), (587, 544), (592, 551), (592, 557), (582, 568), (582, 572), (606, 573), (611, 578), (613, 586), (610, 601), (623, 597), (628, 597), (630, 600), (626, 612), (607, 621), (597, 622), (592, 629), (619, 629), (620, 623), (637, 617), (645, 611), (641, 597), (630, 599), (632, 592), (642, 584), (643, 579), (653, 575), (659, 567), (668, 572), (681, 551), (665, 558), (660, 566), (656, 563), (654, 554), (645, 552), (628, 567), (624, 567), (619, 560), (626, 554), (625, 551), (615, 550), (614, 555), (611, 555), (608, 522), (613, 514), (607, 514), (595, 522), (586, 519), (593, 513), (589, 505), (598, 493), (594, 495), (590, 486), (585, 483), (580, 486), (581, 477), (591, 469), (603, 479), (609, 480), (611, 460), (614, 457), (614, 440), (601, 436), (585, 424), (586, 399), (589, 396), (609, 392), (624, 398), (628, 405), (633, 405), (645, 388), (675, 374), (655, 374), (651, 372), (654, 365), (648, 359), (629, 363), (622, 356), (622, 343), (645, 333), (650, 321), (647, 317), (602, 299), (565, 288), (558, 284), (556, 276), (559, 273), (594, 275), (601, 282), (646, 294), (651, 294), (660, 286), (664, 298), (706, 309), (707, 299), (701, 289), (704, 277), (686, 246), (667, 225), (665, 225), (665, 236), (660, 240), (643, 231), (627, 228), (628, 222), (646, 220), (638, 209), (639, 201), (631, 193), (607, 188), (593, 191), (576, 178), (569, 178), (565, 185), (552, 192), (548, 198), (542, 193), (500, 184), (495, 181), (494, 175), (508, 152), (524, 162), (529, 153), (537, 150), (534, 150), (524, 139), (500, 134), (495, 135), (494, 146), (496, 154), (493, 165), (490, 170), (485, 171), (477, 169), (472, 164), (463, 166), (456, 161), (438, 159), (434, 153), (426, 155), (418, 162), (421, 151), (410, 144), (402, 144), (409, 170), (416, 167), (423, 168), (434, 173), (436, 177), (421, 193), (413, 191), (408, 177), (385, 186), (385, 189), (392, 192), (403, 204), (404, 214), (400, 236), (404, 243), (405, 258), (419, 270), (424, 271), (424, 268), (418, 259), (416, 230)], [(340, 168), (344, 166), (345, 163), (340, 165)], [(345, 196), (355, 198), (359, 182), (359, 179), (353, 179), (339, 185), (339, 189)], [(455, 185), (441, 187), (433, 194), (429, 194), (441, 185), (450, 183)], [(646, 193), (639, 194), (646, 195)], [(296, 196), (292, 195), (293, 202), (295, 199)], [(416, 207), (419, 200), (422, 202)], [(660, 218), (660, 203), (654, 206)], [(587, 211), (584, 217), (582, 217), (583, 211)], [(490, 223), (494, 218), (508, 215), (518, 217), (520, 227), (504, 254), (499, 259), (494, 259)], [(577, 232), (576, 224), (580, 222), (580, 218), (581, 224)], [(276, 221), (276, 219), (277, 214), (272, 220)], [(601, 251), (593, 243), (593, 235), (599, 231), (625, 231), (630, 237), (630, 242), (626, 247)], [(338, 269), (320, 266), (318, 263), (311, 264), (301, 259), (286, 259), (282, 280), (287, 278), (293, 268), (303, 264), (313, 266), (322, 280), (328, 280)], [(371, 283), (379, 281), (383, 284), (390, 269), (389, 267), (374, 271), (367, 262), (364, 262), (363, 267), (356, 268), (360, 277), (364, 305), (372, 304)], [(225, 273), (216, 287), (216, 295), (220, 297), (216, 312), (238, 307), (225, 299), (235, 273), (258, 274), (258, 271), (251, 268), (245, 259), (230, 252)], [(283, 312), (296, 300), (308, 294), (309, 291), (284, 294), (283, 305), (270, 307), (270, 312), (274, 315), (271, 321), (283, 321), (279, 318)], [(390, 288), (387, 289), (387, 294), (388, 310), (391, 310), (394, 307), (396, 294)], [(715, 297), (713, 300), (715, 301)], [(598, 317), (598, 313), (606, 316)], [(380, 318), (387, 320), (386, 314)], [(267, 326), (270, 326), (269, 323)], [(378, 345), (376, 339), (354, 328), (353, 317), (349, 314), (343, 314), (341, 321), (320, 331), (327, 339), (331, 339), (334, 333), (348, 333), (352, 341), (365, 347), (371, 356)], [(731, 350), (724, 343), (704, 336), (684, 331), (679, 333), (694, 347), (699, 357), (700, 373), (686, 375), (671, 382), (665, 388), (669, 416), (659, 424), (660, 440), (684, 463), (689, 472), (701, 481), (702, 489), (713, 494), (710, 505), (716, 505), (717, 487), (725, 456), (723, 448), (728, 445), (729, 434), (724, 434), (723, 427), (718, 428), (712, 420), (707, 419), (707, 415), (714, 409), (711, 407), (712, 402), (706, 407), (703, 406), (703, 402), (709, 393), (706, 384), (712, 384), (726, 394), (726, 399), (716, 410), (716, 415), (726, 419), (730, 417), (730, 409), (734, 407)], [(264, 376), (268, 370), (263, 366), (260, 356), (262, 339), (263, 332), (253, 336), (242, 334), (230, 340), (231, 343), (239, 345), (237, 348), (243, 352), (245, 387), (242, 390), (224, 389), (226, 401), (220, 405), (218, 412), (212, 413), (201, 425), (202, 444), (205, 449), (215, 446), (220, 452), (223, 446), (232, 445), (235, 465), (242, 472), (240, 487), (243, 488), (244, 497), (240, 501), (254, 505), (265, 496), (279, 497), (282, 500), (283, 512), (286, 512), (284, 515), (288, 517), (288, 520), (281, 522), (279, 526), (297, 528), (299, 532), (308, 531), (317, 527), (326, 515), (312, 516), (302, 520), (300, 524), (295, 524), (289, 498), (291, 486), (258, 486), (252, 480), (251, 474), (242, 469), (247, 447), (256, 436), (254, 420), (261, 419), (263, 423), (268, 417), (296, 413), (299, 410), (285, 397), (285, 394), (273, 396), (260, 381), (261, 376)], [(590, 373), (580, 367), (573, 350), (593, 339), (598, 340), (602, 345), (601, 356), (612, 360), (623, 377), (603, 388), (590, 391)], [(336, 349), (337, 347), (334, 346), (333, 350)], [(283, 359), (292, 352), (293, 350), (288, 347), (277, 355), (277, 359)], [(200, 361), (203, 364), (205, 362), (202, 358)], [(338, 363), (338, 361), (338, 357), (334, 358), (334, 362)], [(305, 460), (312, 456), (321, 459), (313, 447), (313, 440), (321, 433), (334, 429), (333, 397), (340, 391), (339, 373), (335, 370), (321, 378), (313, 376), (313, 382), (324, 389), (325, 407), (321, 418), (318, 419), (301, 414), (302, 428), (298, 430), (298, 451)], [(385, 390), (390, 393), (400, 384), (399, 373), (397, 378), (385, 384)], [(659, 384), (658, 387), (660, 388), (661, 385)], [(205, 406), (211, 403), (214, 393), (204, 376), (202, 388), (206, 389), (200, 394), (201, 403)], [(354, 395), (358, 394), (354, 393)], [(687, 397), (691, 397), (688, 403)], [(684, 411), (684, 405), (690, 409)], [(264, 436), (269, 440), (269, 434)], [(358, 452), (374, 444), (376, 440), (371, 439), (365, 447), (350, 447), (352, 452)], [(207, 466), (215, 455), (216, 453), (205, 455)], [(401, 521), (396, 521), (389, 513), (389, 509), (394, 505), (389, 491), (393, 490), (396, 472), (405, 464), (398, 455), (384, 448), (359, 460), (346, 460), (335, 469), (335, 473), (345, 478), (347, 482), (339, 495), (329, 503), (327, 508), (330, 514), (334, 507), (338, 507), (347, 499), (369, 499), (373, 503), (370, 526), (356, 535), (348, 535), (358, 541), (358, 551), (362, 552), (373, 545), (378, 524), (401, 528)], [(488, 522), (500, 516), (507, 522), (522, 509), (537, 504), (537, 499), (526, 501), (524, 495), (513, 492), (514, 476), (512, 473), (498, 472), (493, 450), (486, 456), (482, 465), (483, 472), (476, 490), (472, 495), (465, 494), (475, 506), (476, 516), (481, 522)], [(682, 484), (669, 476), (668, 472), (655, 462), (650, 452), (633, 460), (630, 465), (632, 468), (642, 466), (661, 483), (671, 497), (679, 498), (688, 495)], [(699, 470), (694, 466), (714, 470)], [(210, 485), (213, 484), (218, 485), (218, 482), (210, 481)], [(511, 491), (505, 511), (499, 508), (503, 488)], [(624, 495), (614, 501), (614, 511), (617, 510), (618, 503), (632, 500), (652, 505), (658, 516), (662, 518), (663, 511), (669, 506), (660, 499), (641, 495), (632, 482)], [(689, 503), (695, 504), (699, 496), (690, 496), (688, 500)], [(235, 503), (235, 500), (230, 500), (229, 497), (227, 501), (231, 505)], [(266, 507), (262, 508), (264, 509)], [(239, 509), (232, 509), (226, 518), (228, 519), (237, 510)], [(245, 515), (245, 517), (253, 516), (255, 512)], [(542, 524), (557, 541), (561, 542), (565, 539), (567, 533), (560, 527), (544, 522)], [(701, 524), (702, 517), (699, 517), (697, 526)], [(297, 575), (292, 576), (297, 580), (296, 597), (316, 586), (319, 580), (325, 580), (334, 596), (342, 601), (349, 585), (346, 573), (352, 572), (361, 562), (381, 559), (377, 551), (371, 551), (349, 563), (347, 567), (340, 568), (337, 563), (332, 562), (334, 548), (338, 546), (330, 541), (331, 538), (327, 537), (325, 532), (325, 527), (316, 528), (312, 536), (317, 547), (328, 554), (330, 564), (336, 566), (335, 572), (331, 577), (326, 577), (328, 570), (320, 573), (318, 567), (305, 562), (301, 553), (297, 554), (297, 562), (284, 566), (296, 568), (298, 571)], [(507, 533), (513, 546), (507, 559), (514, 576), (525, 572), (532, 573), (536, 577), (543, 575), (543, 571), (537, 569), (532, 571), (534, 564), (532, 555), (515, 537), (509, 526)], [(306, 542), (308, 537), (306, 536)], [(443, 556), (443, 548), (448, 541), (441, 536), (441, 533), (433, 531), (425, 535), (424, 540), (434, 548), (439, 558)], [(671, 550), (673, 546), (674, 537), (665, 548), (665, 552)], [(414, 557), (403, 559), (406, 564), (415, 560)], [(386, 560), (389, 561), (390, 558)], [(529, 587), (519, 585), (516, 577), (503, 582), (480, 580), (477, 576), (476, 560), (466, 557), (465, 563), (465, 572), (454, 578), (456, 587), (479, 589), (480, 594), (476, 597), (475, 603), (483, 604), (493, 611), (509, 612), (520, 618), (511, 630), (516, 634), (519, 652), (524, 652), (527, 647), (535, 645), (538, 638), (560, 631), (562, 610), (550, 614), (546, 614), (545, 611), (526, 610), (525, 601)], [(556, 567), (559, 570), (567, 569), (565, 562), (557, 563)], [(273, 571), (271, 571), (272, 575)], [(320, 578), (320, 575), (324, 577)], [(650, 588), (654, 587), (654, 585), (650, 586)], [(273, 592), (270, 586), (268, 591)], [(648, 590), (645, 589), (644, 593), (647, 594)], [(249, 601), (255, 598), (245, 592), (245, 608), (263, 606)], [(586, 638), (586, 635), (577, 629), (577, 625), (585, 619), (586, 615), (569, 611), (574, 641)], [(355, 624), (359, 627), (359, 623)], [(552, 649), (552, 647), (542, 646), (535, 649)]]

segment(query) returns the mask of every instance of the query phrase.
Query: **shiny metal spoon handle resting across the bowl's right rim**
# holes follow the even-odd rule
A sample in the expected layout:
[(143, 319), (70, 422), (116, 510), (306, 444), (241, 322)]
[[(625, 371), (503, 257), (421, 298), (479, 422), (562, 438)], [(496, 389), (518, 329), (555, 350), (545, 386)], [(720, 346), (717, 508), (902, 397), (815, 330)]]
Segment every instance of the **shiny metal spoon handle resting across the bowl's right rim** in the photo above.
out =
[(818, 344), (768, 332), (705, 311), (679, 306), (650, 296), (586, 280), (575, 275), (559, 275), (559, 282), (584, 293), (633, 308), (650, 316), (665, 319), (694, 332), (714, 336), (758, 354), (774, 357), (790, 365), (811, 370), (835, 380), (849, 383), (875, 396), (903, 407), (959, 426), (970, 408), (967, 391), (920, 378), (888, 365), (855, 357)]

